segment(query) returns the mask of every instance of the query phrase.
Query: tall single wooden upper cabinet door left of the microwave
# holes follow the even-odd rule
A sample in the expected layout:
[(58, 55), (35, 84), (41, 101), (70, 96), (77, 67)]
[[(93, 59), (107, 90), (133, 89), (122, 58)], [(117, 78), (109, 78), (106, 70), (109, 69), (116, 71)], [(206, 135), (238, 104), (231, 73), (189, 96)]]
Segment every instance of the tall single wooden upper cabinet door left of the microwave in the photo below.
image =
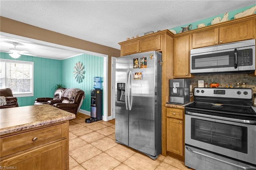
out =
[(174, 77), (191, 77), (189, 50), (189, 35), (174, 38)]

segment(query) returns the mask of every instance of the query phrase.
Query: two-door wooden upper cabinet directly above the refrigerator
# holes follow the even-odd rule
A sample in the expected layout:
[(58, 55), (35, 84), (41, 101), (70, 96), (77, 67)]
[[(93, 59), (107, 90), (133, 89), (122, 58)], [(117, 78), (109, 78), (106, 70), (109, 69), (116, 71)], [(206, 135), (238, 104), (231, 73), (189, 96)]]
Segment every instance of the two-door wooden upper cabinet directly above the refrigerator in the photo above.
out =
[(161, 49), (161, 35), (151, 36), (140, 40), (121, 44), (121, 55), (129, 55)]

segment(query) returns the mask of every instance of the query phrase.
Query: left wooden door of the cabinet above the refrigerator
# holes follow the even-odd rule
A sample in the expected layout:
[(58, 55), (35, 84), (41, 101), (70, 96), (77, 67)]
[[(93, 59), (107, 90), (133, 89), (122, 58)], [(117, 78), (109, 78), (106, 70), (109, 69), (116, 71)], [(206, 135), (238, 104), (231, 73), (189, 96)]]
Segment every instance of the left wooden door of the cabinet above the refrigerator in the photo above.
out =
[(121, 45), (121, 55), (135, 54), (139, 52), (139, 41), (132, 41)]

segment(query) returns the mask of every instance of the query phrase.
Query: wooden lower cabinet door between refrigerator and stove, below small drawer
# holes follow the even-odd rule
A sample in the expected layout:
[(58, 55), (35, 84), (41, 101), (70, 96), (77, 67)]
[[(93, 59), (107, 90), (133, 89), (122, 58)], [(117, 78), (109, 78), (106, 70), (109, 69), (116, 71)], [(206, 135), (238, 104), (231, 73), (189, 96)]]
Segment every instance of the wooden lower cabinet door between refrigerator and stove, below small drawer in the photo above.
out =
[(183, 121), (167, 118), (167, 151), (183, 156)]

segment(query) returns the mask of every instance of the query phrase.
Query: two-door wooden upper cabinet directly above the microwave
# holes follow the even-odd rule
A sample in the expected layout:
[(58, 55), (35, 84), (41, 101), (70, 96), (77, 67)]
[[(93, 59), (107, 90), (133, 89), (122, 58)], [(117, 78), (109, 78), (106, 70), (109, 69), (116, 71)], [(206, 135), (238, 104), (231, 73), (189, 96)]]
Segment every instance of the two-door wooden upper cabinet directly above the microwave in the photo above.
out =
[(192, 48), (252, 39), (253, 25), (253, 20), (248, 20), (202, 32), (196, 32), (192, 35)]

